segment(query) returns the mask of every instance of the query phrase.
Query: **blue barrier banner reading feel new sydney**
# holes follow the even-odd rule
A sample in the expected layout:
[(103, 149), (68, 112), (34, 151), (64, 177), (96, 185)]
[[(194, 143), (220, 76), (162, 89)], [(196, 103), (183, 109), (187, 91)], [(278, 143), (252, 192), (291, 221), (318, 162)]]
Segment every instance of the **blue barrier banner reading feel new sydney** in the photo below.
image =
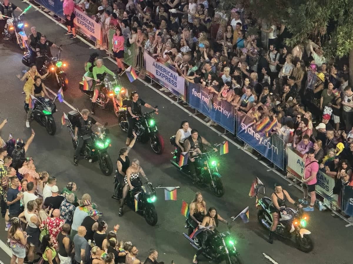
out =
[(231, 103), (218, 100), (217, 95), (209, 93), (208, 89), (199, 83), (189, 82), (188, 93), (190, 106), (226, 128), (226, 130), (234, 133), (235, 109)]

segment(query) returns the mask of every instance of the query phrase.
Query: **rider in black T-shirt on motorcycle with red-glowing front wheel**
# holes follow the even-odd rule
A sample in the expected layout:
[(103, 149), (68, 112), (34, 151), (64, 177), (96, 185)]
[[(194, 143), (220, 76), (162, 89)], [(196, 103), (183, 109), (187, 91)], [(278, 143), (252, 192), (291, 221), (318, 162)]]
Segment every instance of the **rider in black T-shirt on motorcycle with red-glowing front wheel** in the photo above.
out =
[(158, 112), (157, 108), (154, 108), (153, 106), (149, 105), (142, 99), (139, 99), (138, 93), (136, 91), (131, 92), (130, 94), (130, 100), (127, 101), (126, 104), (126, 119), (129, 125), (129, 129), (127, 131), (127, 138), (126, 138), (126, 146), (130, 144), (130, 138), (132, 136), (132, 131), (135, 127), (136, 123), (136, 115), (142, 115), (141, 111), (141, 106), (145, 106), (150, 109), (154, 109), (156, 112)]

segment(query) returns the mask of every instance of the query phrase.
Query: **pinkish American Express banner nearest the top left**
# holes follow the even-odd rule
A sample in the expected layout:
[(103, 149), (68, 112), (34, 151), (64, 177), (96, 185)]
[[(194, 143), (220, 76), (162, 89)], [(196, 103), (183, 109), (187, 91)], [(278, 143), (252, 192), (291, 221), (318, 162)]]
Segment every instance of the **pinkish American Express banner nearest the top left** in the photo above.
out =
[(98, 39), (101, 41), (101, 24), (97, 23), (90, 16), (83, 13), (82, 9), (75, 5), (74, 13), (76, 18), (73, 19), (73, 23), (79, 28), (87, 37), (92, 40)]

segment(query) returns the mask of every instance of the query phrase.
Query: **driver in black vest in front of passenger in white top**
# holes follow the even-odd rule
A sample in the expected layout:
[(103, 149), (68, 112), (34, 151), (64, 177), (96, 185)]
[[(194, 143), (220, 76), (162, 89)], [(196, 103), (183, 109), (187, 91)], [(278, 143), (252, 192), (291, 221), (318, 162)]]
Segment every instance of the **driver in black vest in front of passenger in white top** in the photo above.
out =
[[(192, 150), (191, 154), (189, 155), (187, 166), (190, 170), (193, 181), (198, 180), (198, 177), (196, 175), (195, 163), (194, 163), (195, 158), (193, 157), (202, 153), (204, 149), (203, 145), (212, 147), (211, 143), (209, 143), (204, 137), (199, 136), (198, 131), (196, 129), (191, 130), (191, 135), (184, 140), (184, 150), (185, 151)], [(213, 150), (218, 151), (215, 147), (213, 148)]]

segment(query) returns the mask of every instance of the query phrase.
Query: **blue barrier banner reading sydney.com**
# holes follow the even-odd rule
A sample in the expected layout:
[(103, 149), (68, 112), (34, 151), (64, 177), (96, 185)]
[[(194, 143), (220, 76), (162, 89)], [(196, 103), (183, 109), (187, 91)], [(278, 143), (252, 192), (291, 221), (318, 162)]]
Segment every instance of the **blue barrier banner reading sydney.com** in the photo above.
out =
[(257, 150), (261, 155), (284, 169), (284, 143), (277, 136), (266, 136), (258, 132), (255, 122), (244, 112), (237, 113), (237, 137)]

